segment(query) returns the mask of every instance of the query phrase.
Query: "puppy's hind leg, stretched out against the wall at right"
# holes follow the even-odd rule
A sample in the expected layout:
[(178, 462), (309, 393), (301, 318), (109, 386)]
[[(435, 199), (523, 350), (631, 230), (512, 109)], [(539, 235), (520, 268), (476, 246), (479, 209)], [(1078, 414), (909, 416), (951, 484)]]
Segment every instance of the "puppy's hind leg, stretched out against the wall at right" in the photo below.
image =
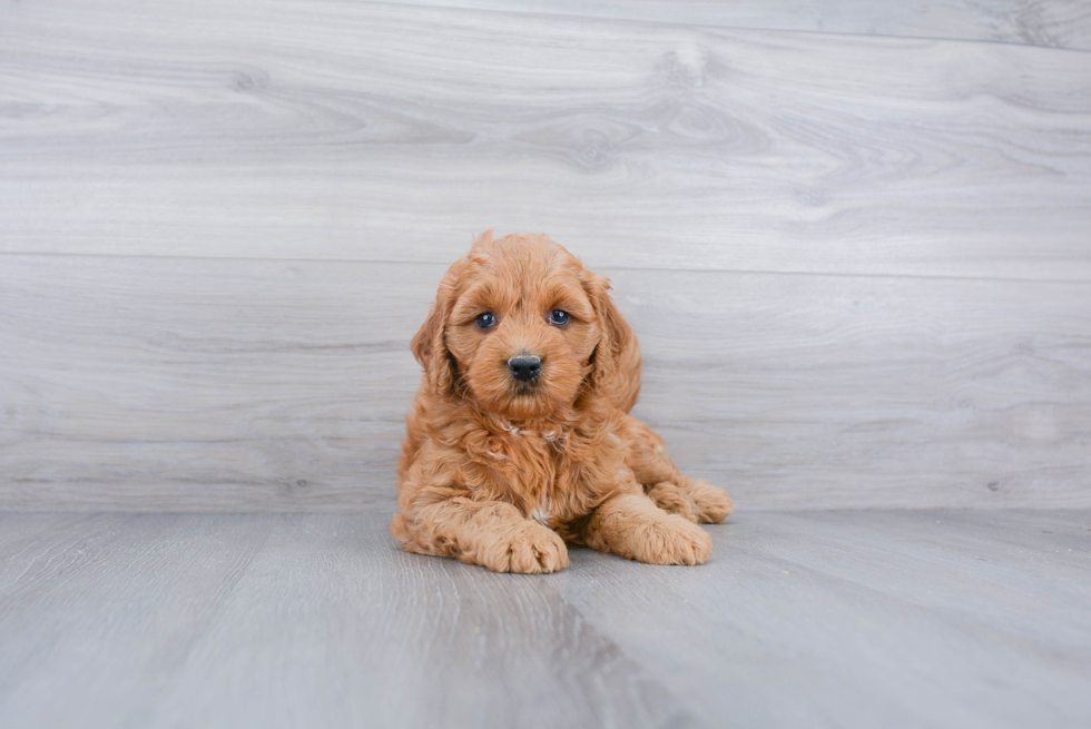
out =
[(648, 496), (660, 509), (698, 523), (718, 524), (731, 513), (731, 499), (723, 489), (690, 479), (667, 455), (662, 439), (635, 417), (627, 421), (628, 465)]

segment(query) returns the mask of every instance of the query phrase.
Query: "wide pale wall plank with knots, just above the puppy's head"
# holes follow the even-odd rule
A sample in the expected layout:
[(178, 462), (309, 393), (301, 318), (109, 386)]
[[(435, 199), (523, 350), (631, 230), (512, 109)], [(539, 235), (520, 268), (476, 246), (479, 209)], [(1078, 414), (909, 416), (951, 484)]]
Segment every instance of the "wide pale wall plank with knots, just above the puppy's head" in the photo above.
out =
[[(485, 52), (485, 49), (486, 52)], [(1091, 280), (1091, 55), (321, 1), (0, 7), (0, 252)]]

